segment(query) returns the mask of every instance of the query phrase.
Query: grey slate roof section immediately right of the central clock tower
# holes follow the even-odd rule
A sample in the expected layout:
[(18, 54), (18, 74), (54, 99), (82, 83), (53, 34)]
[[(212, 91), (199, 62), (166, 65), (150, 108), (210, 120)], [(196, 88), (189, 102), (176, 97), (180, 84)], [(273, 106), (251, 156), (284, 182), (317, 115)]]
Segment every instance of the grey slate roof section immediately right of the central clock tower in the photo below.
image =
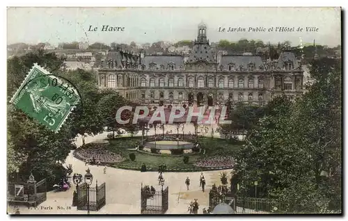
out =
[(227, 67), (228, 64), (235, 64), (235, 68), (239, 69), (239, 66), (242, 65), (244, 69), (248, 68), (249, 63), (255, 64), (255, 69), (260, 69), (260, 65), (264, 67), (262, 58), (260, 56), (222, 56), (219, 66), (223, 65)]

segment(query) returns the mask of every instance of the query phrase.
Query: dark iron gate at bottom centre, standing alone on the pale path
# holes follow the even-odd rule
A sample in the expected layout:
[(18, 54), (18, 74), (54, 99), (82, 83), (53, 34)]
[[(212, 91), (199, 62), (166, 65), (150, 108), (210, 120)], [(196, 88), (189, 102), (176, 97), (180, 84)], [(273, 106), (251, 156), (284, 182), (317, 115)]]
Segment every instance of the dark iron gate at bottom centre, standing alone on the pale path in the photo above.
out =
[(141, 214), (164, 214), (168, 210), (168, 186), (156, 191), (141, 186)]

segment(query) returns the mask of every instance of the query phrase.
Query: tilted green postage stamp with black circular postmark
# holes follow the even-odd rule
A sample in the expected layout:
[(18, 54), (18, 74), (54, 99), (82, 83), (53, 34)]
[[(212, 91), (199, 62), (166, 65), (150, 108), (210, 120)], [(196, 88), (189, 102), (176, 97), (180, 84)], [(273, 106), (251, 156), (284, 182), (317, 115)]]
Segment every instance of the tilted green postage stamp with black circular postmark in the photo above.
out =
[(79, 101), (76, 88), (35, 63), (10, 103), (58, 132)]

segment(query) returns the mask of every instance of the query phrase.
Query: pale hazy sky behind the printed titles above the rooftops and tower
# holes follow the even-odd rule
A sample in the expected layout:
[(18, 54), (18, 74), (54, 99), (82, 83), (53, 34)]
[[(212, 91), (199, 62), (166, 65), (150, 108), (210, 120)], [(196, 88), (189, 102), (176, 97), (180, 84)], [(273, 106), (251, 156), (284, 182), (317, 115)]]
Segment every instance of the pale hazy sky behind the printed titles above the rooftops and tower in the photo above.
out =
[[(160, 40), (194, 40), (198, 24), (207, 25), (210, 42), (262, 40), (328, 45), (341, 44), (340, 8), (8, 8), (8, 44), (24, 42), (111, 42), (138, 44)], [(124, 31), (101, 31), (103, 25), (125, 27)], [(90, 26), (97, 31), (88, 31)], [(274, 27), (292, 32), (268, 31)], [(228, 28), (246, 28), (227, 32)], [(266, 31), (248, 31), (248, 28)], [(316, 32), (306, 31), (315, 27)], [(222, 28), (226, 31), (219, 32)], [(303, 28), (303, 31), (296, 31)]]

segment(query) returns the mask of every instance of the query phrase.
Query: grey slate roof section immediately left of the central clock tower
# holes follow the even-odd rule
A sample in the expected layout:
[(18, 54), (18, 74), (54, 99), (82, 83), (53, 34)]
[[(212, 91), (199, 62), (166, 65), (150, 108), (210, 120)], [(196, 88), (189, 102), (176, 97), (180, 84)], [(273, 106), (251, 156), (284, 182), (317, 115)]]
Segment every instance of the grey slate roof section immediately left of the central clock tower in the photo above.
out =
[(182, 56), (145, 56), (141, 58), (141, 65), (149, 67), (150, 63), (155, 63), (157, 67), (164, 65), (164, 68), (168, 67), (168, 64), (174, 63), (175, 68), (184, 67), (184, 58)]

